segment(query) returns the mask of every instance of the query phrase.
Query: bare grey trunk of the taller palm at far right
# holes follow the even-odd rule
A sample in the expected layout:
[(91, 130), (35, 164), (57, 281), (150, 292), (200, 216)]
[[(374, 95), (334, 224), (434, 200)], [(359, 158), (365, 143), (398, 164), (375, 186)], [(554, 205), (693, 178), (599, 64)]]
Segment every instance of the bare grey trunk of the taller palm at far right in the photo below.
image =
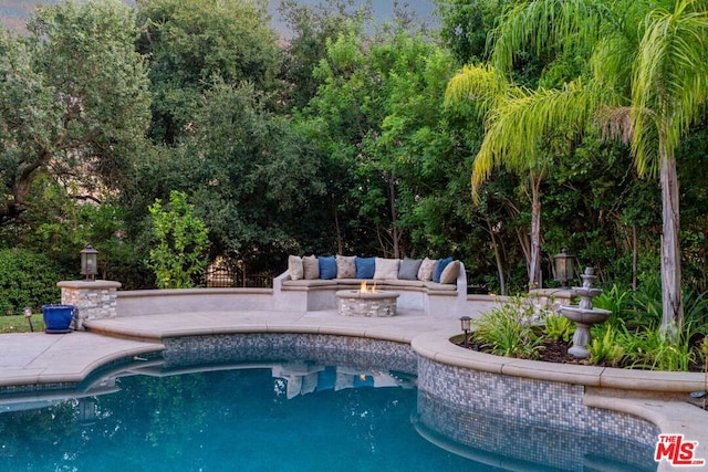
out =
[(679, 248), (679, 202), (676, 159), (659, 137), (662, 159), (662, 332), (671, 340), (678, 339), (684, 322), (681, 301), (681, 255)]

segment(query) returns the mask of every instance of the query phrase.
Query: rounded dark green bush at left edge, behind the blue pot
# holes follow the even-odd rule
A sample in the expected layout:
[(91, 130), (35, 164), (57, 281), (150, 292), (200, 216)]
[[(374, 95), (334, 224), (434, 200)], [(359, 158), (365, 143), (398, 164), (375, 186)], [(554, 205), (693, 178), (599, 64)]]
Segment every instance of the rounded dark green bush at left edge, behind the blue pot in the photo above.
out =
[(17, 315), (25, 306), (59, 303), (56, 282), (66, 274), (46, 255), (25, 249), (0, 250), (0, 315)]

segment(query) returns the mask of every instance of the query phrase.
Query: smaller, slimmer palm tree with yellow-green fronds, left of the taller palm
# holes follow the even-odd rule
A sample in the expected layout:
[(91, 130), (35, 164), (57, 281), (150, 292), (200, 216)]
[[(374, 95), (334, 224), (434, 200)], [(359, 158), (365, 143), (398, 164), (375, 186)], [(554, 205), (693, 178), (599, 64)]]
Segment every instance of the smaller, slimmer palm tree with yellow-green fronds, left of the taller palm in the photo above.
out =
[(452, 77), (446, 92), (448, 103), (472, 99), (485, 115), (485, 138), (472, 165), (472, 196), (478, 197), (481, 185), (498, 167), (528, 176), (531, 193), (529, 289), (538, 289), (541, 283), (540, 196), (551, 164), (551, 153), (543, 146), (543, 137), (553, 132), (558, 123), (589, 119), (585, 115), (592, 106), (569, 106), (573, 102), (594, 98), (583, 92), (577, 84), (569, 84), (563, 90), (514, 86), (490, 65), (465, 66)]

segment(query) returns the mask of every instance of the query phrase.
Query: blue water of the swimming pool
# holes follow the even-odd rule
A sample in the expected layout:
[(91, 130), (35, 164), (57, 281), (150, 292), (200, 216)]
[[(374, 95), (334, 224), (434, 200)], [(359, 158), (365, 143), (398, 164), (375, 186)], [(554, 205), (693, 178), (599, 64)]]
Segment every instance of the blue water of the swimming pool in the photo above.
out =
[[(296, 366), (296, 375), (287, 363), (122, 377), (112, 394), (39, 409), (15, 406), (0, 413), (1, 470), (506, 470), (468, 459), (476, 452), (424, 432), (416, 421), (421, 399), (410, 388), (415, 379), (404, 374)], [(115, 390), (111, 382), (105, 387)], [(489, 428), (481, 424), (485, 418), (476, 421), (481, 431)], [(519, 437), (518, 427), (501, 428), (510, 428), (502, 434), (509, 441)], [(494, 460), (514, 470), (559, 470)], [(596, 461), (612, 465), (608, 459)], [(620, 465), (613, 470), (623, 470)]]

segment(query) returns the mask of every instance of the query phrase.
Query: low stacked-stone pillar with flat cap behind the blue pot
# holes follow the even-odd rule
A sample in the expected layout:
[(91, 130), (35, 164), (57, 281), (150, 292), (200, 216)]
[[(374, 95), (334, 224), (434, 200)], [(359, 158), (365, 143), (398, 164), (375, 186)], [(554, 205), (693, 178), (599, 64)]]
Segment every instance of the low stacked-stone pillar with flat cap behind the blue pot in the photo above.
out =
[(113, 281), (62, 281), (62, 304), (74, 305), (72, 327), (83, 331), (86, 319), (115, 318), (117, 290), (121, 282)]

